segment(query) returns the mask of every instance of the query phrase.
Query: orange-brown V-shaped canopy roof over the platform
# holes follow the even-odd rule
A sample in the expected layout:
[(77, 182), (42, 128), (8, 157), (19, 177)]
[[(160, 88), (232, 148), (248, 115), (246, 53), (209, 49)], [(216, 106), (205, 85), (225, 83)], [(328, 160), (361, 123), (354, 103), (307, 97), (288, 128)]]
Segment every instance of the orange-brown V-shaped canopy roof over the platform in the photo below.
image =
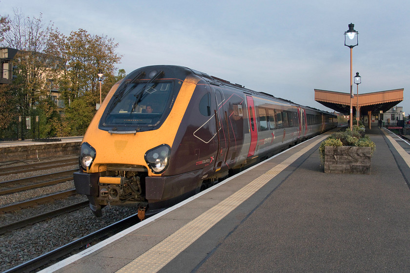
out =
[[(360, 90), (359, 90), (360, 91)], [(380, 111), (387, 112), (399, 102), (403, 101), (404, 88), (386, 90), (372, 93), (359, 93), (359, 110), (361, 116), (367, 116), (369, 112), (378, 114)], [(353, 94), (352, 108), (353, 113), (356, 112), (357, 96)], [(350, 94), (315, 89), (315, 100), (326, 107), (342, 113), (343, 115), (350, 114)]]

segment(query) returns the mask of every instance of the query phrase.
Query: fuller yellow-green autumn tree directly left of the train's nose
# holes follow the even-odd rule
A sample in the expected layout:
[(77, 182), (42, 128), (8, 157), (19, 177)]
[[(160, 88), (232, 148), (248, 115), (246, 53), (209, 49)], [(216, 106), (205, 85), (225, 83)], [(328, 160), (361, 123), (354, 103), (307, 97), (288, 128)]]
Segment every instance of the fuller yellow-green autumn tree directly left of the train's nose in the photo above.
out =
[(66, 105), (63, 121), (69, 122), (73, 135), (84, 134), (94, 117), (96, 103), (100, 103), (97, 76), (100, 69), (104, 75), (102, 99), (113, 85), (114, 65), (122, 58), (115, 53), (118, 43), (106, 36), (90, 35), (83, 29), (72, 31), (68, 37), (55, 31), (52, 37), (55, 45), (53, 52), (64, 63), (57, 69), (60, 91)]

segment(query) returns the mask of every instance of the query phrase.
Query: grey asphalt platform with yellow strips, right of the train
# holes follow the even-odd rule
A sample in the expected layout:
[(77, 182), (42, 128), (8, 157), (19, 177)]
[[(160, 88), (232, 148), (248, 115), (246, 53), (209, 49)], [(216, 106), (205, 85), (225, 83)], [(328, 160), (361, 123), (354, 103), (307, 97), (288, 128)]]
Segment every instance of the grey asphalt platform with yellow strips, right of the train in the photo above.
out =
[(409, 143), (366, 134), (370, 175), (324, 173), (321, 135), (41, 272), (408, 272)]

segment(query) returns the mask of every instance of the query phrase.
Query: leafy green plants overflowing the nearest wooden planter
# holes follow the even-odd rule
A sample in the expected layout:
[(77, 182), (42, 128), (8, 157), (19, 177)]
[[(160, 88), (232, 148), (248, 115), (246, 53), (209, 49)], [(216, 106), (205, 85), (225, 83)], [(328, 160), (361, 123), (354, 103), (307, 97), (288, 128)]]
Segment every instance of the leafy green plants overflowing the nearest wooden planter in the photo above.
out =
[(376, 145), (370, 140), (370, 137), (365, 136), (364, 126), (354, 125), (352, 129), (352, 131), (348, 128), (344, 132), (335, 132), (320, 143), (319, 156), (322, 163), (325, 163), (325, 146), (370, 147), (371, 155), (373, 155), (376, 151)]

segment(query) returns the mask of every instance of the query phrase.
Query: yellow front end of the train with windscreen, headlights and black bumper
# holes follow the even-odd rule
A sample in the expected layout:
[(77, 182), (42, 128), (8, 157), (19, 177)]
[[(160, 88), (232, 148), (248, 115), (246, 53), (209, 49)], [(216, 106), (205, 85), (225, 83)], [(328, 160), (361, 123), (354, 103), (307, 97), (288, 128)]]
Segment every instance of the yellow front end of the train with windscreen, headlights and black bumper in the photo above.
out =
[[(146, 77), (163, 68), (161, 78)], [(145, 73), (138, 76), (141, 70)], [(84, 135), (80, 171), (74, 174), (77, 193), (87, 195), (95, 215), (101, 216), (106, 205), (146, 208), (150, 203), (151, 211), (160, 210), (195, 193), (192, 180), (200, 180), (201, 171), (175, 173), (178, 160), (170, 158), (179, 147), (174, 139), (199, 80), (185, 68), (153, 66), (111, 89)], [(159, 104), (161, 94), (166, 103)], [(157, 112), (144, 112), (149, 104)]]

